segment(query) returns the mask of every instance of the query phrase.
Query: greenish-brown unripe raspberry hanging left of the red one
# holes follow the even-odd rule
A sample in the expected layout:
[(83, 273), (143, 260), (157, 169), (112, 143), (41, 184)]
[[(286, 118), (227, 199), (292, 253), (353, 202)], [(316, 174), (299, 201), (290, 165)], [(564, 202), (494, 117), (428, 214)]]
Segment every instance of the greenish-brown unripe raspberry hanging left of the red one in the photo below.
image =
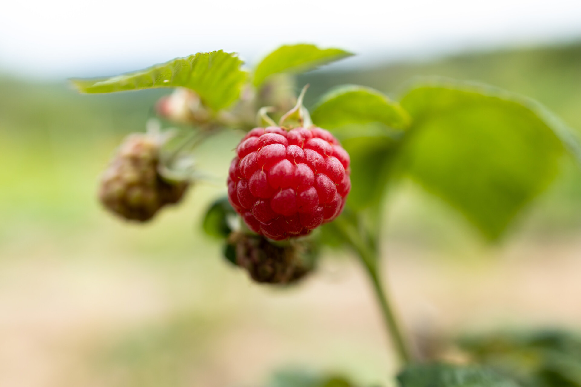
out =
[(125, 219), (145, 222), (166, 204), (180, 201), (188, 184), (169, 183), (159, 175), (156, 136), (135, 133), (119, 147), (101, 178), (99, 199)]

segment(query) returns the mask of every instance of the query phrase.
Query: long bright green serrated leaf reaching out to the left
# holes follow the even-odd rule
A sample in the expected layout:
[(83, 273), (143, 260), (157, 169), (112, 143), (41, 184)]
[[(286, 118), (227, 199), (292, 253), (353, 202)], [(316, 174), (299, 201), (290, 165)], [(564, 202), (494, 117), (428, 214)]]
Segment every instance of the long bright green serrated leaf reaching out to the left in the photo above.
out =
[(111, 93), (181, 86), (198, 93), (206, 106), (220, 110), (238, 99), (248, 75), (241, 70), (242, 63), (236, 53), (227, 53), (223, 50), (199, 52), (135, 73), (71, 81), (83, 93)]

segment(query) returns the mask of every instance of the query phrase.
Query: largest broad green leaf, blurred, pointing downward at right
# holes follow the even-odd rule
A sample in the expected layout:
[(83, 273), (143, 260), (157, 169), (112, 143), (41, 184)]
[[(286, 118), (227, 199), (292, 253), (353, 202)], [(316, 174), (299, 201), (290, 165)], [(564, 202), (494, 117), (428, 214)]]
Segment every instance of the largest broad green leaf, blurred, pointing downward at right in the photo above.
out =
[(404, 167), (490, 239), (553, 180), (576, 138), (538, 104), (490, 87), (432, 80), (401, 100), (412, 116)]

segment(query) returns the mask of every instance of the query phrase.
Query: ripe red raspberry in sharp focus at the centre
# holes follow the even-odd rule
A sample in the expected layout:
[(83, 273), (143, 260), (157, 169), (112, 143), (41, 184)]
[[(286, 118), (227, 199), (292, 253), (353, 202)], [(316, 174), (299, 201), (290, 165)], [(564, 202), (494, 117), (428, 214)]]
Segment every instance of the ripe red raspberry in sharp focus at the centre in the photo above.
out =
[(343, 211), (349, 154), (328, 131), (255, 128), (236, 154), (228, 200), (254, 232), (274, 240), (306, 235)]

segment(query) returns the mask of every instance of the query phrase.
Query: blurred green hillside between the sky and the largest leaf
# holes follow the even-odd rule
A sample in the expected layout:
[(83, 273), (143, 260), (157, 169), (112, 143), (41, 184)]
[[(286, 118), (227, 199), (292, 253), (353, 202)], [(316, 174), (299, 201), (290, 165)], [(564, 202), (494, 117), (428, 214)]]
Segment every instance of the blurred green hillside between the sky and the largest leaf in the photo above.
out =
[(401, 81), (418, 74), (453, 79), (478, 79), (489, 85), (538, 100), (573, 128), (581, 129), (581, 40), (564, 45), (467, 52), (432, 61), (389, 63), (300, 75), (311, 84), (309, 98), (341, 84), (371, 86), (381, 92), (398, 90)]

